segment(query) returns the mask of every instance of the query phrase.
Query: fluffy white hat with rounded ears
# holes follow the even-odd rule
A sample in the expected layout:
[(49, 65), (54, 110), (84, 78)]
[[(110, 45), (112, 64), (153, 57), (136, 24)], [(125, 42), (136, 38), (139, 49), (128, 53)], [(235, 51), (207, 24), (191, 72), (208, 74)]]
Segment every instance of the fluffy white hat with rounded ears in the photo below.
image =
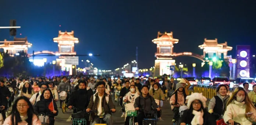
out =
[(200, 100), (203, 103), (203, 108), (206, 107), (207, 98), (203, 96), (203, 93), (192, 93), (191, 95), (186, 96), (186, 99), (188, 100), (188, 108), (190, 108), (191, 103), (194, 100)]

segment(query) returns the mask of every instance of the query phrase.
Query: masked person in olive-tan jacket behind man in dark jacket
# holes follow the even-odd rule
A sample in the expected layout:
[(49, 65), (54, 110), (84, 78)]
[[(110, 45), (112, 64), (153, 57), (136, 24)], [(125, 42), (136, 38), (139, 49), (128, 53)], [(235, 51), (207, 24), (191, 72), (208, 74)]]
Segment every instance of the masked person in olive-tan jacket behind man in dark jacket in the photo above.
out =
[[(159, 87), (159, 83), (153, 84), (153, 89), (149, 90), (149, 95), (152, 96), (154, 99), (157, 99), (157, 100), (162, 101), (162, 102), (165, 99), (164, 92)], [(159, 121), (164, 121), (161, 118), (161, 108), (160, 108), (160, 111), (157, 111), (157, 118), (159, 118)]]

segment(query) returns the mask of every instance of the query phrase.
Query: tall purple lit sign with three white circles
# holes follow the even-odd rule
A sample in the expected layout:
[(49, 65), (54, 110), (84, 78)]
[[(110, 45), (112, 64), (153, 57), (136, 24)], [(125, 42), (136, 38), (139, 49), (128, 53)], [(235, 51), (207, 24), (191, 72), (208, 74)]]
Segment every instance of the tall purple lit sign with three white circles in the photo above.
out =
[(250, 77), (250, 45), (237, 45), (236, 76)]

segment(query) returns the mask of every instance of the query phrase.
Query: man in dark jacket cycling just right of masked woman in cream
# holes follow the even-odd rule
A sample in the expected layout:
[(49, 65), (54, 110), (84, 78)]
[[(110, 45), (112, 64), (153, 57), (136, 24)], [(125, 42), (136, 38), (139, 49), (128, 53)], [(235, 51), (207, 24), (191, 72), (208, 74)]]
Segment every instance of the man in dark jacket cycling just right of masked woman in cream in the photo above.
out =
[[(160, 108), (157, 106), (154, 98), (149, 95), (149, 87), (146, 85), (142, 86), (141, 94), (138, 98), (135, 99), (134, 108), (139, 111), (137, 115), (138, 124), (142, 125), (143, 119), (146, 117), (145, 114), (152, 112), (153, 109), (160, 111)], [(139, 109), (144, 109), (140, 111)]]

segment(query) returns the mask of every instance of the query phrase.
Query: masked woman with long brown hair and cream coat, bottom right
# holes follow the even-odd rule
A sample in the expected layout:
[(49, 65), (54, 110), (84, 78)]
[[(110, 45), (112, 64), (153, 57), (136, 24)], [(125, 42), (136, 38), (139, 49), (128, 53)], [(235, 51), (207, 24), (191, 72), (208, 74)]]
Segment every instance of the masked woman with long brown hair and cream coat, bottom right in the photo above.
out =
[(234, 121), (241, 125), (252, 125), (252, 122), (256, 122), (255, 107), (242, 87), (236, 88), (230, 97), (223, 119), (231, 125), (234, 125)]

